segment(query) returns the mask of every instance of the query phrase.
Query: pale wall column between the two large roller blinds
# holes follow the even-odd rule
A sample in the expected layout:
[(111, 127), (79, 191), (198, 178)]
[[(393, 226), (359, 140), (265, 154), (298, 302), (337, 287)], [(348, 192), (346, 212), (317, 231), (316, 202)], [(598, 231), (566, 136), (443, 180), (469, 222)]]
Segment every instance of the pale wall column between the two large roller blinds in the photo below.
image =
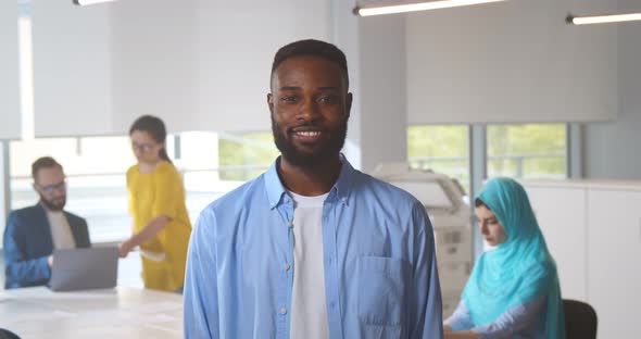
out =
[(332, 0), (332, 41), (345, 53), (354, 96), (343, 149), (356, 168), (406, 159), (405, 17), (359, 17)]

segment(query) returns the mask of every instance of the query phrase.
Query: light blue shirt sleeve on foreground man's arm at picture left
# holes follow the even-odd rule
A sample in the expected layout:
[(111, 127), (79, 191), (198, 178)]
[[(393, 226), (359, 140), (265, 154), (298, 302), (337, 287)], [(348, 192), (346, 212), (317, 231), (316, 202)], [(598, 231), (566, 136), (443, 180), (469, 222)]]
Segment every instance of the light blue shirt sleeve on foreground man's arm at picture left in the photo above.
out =
[(221, 338), (215, 218), (204, 210), (191, 233), (187, 253), (184, 296), (185, 338)]

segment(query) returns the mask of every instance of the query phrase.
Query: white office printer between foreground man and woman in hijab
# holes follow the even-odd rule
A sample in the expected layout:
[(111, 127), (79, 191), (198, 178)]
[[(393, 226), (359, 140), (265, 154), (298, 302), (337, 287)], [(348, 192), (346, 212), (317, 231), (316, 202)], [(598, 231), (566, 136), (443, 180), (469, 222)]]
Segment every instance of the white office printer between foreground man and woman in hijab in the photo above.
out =
[(473, 265), (470, 209), (461, 185), (444, 174), (410, 168), (407, 163), (379, 164), (372, 176), (412, 193), (427, 209), (447, 318), (458, 304)]

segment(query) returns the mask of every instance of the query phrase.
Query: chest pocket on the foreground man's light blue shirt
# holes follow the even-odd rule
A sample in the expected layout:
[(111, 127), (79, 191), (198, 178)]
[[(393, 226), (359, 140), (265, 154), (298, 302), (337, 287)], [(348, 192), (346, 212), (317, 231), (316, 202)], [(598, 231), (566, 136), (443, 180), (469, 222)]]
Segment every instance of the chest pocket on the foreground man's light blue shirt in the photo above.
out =
[(361, 256), (357, 262), (357, 312), (368, 325), (401, 327), (410, 279), (410, 263), (393, 258)]

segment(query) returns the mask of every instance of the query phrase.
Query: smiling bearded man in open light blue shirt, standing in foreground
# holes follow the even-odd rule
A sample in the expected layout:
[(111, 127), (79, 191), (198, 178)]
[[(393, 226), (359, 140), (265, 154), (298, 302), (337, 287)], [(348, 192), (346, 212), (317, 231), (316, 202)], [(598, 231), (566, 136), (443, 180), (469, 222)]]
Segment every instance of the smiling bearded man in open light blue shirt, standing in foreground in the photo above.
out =
[(210, 204), (189, 244), (186, 338), (441, 338), (433, 236), (409, 193), (340, 153), (344, 54), (302, 40), (274, 58), (281, 155)]

